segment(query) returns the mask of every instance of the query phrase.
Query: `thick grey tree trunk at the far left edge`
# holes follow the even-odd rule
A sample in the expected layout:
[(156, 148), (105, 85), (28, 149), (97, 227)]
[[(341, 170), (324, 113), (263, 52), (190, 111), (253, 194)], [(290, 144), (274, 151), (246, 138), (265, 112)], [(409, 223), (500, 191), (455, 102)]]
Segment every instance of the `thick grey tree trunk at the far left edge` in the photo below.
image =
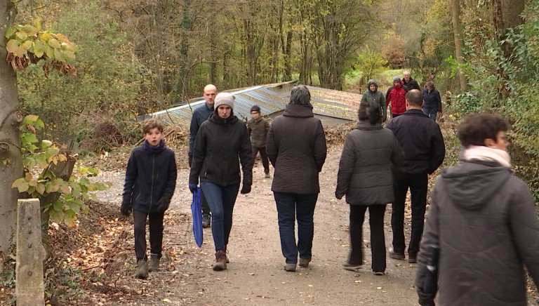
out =
[[(0, 1), (1, 37), (15, 14), (13, 4)], [(19, 123), (22, 114), (18, 110), (17, 76), (6, 62), (6, 43), (0, 40), (0, 253), (7, 253), (13, 241), (17, 220), (17, 189), (11, 184), (22, 177)], [(0, 258), (2, 258), (0, 254)]]

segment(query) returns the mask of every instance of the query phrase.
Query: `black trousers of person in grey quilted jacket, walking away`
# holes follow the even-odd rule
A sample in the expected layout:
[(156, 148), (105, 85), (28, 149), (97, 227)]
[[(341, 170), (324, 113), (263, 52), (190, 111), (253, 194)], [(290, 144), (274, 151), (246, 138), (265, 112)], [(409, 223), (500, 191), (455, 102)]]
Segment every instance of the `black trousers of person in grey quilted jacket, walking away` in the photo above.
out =
[(348, 262), (363, 265), (363, 221), (368, 208), (368, 223), (371, 225), (371, 251), (373, 272), (385, 272), (385, 235), (383, 205), (350, 205), (350, 244), (352, 249)]

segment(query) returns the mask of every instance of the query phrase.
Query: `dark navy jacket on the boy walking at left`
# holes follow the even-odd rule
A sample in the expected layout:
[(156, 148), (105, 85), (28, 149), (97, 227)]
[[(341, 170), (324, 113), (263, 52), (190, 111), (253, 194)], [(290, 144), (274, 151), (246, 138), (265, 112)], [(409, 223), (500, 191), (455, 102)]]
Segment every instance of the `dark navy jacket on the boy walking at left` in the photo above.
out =
[(157, 212), (157, 201), (174, 194), (177, 175), (171, 149), (163, 147), (161, 152), (149, 152), (144, 145), (135, 147), (127, 163), (124, 199), (131, 199), (134, 211)]

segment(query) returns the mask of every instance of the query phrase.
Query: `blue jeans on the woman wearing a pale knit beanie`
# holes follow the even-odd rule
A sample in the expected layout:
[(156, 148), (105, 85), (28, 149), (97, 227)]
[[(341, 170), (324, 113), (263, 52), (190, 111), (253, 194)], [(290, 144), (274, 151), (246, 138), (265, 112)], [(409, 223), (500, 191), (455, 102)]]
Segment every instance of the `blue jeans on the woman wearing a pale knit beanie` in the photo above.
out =
[(238, 197), (239, 184), (220, 186), (201, 182), (200, 187), (211, 210), (211, 234), (215, 251), (225, 251), (232, 229), (232, 211)]

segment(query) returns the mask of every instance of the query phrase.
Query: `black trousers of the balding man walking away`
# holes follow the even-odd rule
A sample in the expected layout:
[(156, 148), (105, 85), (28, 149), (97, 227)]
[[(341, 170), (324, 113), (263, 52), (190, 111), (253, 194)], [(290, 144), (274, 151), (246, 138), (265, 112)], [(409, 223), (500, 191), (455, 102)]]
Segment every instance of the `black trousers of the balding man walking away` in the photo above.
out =
[(395, 201), (391, 214), (391, 227), (395, 253), (404, 254), (406, 248), (404, 244), (404, 205), (409, 187), (412, 195), (412, 234), (408, 245), (408, 254), (418, 254), (423, 225), (425, 224), (428, 181), (427, 173), (396, 173), (394, 175)]

